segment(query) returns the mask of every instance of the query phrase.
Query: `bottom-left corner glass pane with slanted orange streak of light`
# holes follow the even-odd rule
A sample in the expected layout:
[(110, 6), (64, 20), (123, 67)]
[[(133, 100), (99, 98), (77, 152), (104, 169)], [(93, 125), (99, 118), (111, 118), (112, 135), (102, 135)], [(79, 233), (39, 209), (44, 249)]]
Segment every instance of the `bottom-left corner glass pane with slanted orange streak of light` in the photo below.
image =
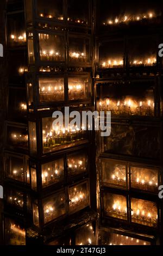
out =
[(26, 245), (26, 230), (14, 220), (5, 218), (5, 245)]

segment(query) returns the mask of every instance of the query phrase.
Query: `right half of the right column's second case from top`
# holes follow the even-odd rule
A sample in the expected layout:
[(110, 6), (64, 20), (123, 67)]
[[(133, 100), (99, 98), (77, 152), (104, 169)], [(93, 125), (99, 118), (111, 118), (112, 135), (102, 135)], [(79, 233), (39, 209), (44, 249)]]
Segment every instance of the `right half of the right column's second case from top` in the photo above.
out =
[(154, 37), (129, 38), (129, 65), (156, 66), (157, 39)]

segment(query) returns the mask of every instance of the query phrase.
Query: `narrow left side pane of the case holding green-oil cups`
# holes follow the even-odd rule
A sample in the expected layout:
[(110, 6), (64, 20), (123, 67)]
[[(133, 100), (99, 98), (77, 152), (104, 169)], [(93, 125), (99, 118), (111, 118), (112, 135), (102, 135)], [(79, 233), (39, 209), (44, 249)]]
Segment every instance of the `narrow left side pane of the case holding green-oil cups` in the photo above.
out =
[(30, 154), (37, 153), (36, 123), (28, 122)]

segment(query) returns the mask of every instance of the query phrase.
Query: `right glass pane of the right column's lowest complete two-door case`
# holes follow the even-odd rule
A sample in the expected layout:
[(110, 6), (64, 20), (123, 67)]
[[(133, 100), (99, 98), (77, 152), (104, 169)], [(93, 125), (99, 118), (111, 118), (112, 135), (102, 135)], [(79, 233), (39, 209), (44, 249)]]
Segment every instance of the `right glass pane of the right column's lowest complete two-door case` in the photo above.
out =
[(131, 198), (131, 221), (156, 228), (158, 225), (158, 208), (156, 203)]

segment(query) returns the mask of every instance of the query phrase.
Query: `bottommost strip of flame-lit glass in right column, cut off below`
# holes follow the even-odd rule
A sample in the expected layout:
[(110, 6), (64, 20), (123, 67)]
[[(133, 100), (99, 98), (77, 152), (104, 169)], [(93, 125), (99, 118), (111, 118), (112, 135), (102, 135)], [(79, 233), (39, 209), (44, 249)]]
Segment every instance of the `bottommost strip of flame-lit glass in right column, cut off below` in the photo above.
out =
[(127, 235), (114, 233), (112, 230), (99, 231), (100, 242), (99, 245), (151, 245), (151, 242), (146, 240), (137, 239)]

